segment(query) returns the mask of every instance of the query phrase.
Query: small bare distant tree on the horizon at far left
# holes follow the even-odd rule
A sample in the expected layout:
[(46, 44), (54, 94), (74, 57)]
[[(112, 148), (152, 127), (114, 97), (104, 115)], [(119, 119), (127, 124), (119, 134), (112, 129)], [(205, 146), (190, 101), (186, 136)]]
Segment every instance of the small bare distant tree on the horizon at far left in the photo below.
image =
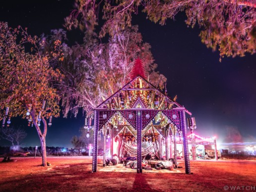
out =
[(20, 142), (27, 136), (27, 133), (22, 128), (4, 126), (0, 128), (0, 136), (3, 139), (10, 141), (13, 145), (18, 146)]

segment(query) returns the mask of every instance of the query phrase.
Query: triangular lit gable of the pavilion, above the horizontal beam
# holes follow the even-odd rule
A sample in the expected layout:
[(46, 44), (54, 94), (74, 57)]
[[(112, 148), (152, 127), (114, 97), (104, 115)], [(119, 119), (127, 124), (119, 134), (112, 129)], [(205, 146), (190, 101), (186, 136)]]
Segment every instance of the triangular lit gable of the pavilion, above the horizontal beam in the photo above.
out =
[[(139, 105), (138, 105), (139, 104)], [(182, 107), (176, 101), (158, 90), (140, 75), (134, 77), (116, 93), (103, 101), (95, 109), (130, 110), (154, 109), (171, 110)], [(186, 110), (187, 112), (187, 110)]]

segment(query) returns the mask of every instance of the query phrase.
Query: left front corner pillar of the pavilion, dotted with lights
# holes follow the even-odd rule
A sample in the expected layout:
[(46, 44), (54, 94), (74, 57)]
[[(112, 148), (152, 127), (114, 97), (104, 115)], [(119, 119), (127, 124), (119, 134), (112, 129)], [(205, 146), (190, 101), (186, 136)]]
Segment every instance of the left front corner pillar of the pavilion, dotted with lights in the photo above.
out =
[(92, 172), (97, 172), (99, 111), (94, 111)]

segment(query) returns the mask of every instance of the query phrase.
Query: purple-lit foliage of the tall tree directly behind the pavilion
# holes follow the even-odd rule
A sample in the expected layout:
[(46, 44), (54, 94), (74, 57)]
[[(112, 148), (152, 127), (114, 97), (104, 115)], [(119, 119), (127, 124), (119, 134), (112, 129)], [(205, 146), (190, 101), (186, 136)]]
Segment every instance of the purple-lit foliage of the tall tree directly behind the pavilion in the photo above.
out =
[[(54, 34), (63, 33), (54, 31)], [(54, 36), (52, 36), (54, 38)], [(100, 43), (95, 33), (85, 33), (84, 43), (68, 47), (63, 45), (64, 60), (60, 68), (65, 74), (59, 85), (63, 96), (64, 117), (71, 111), (75, 116), (80, 107), (87, 115), (129, 80), (134, 60), (140, 57), (149, 80), (159, 88), (166, 78), (155, 69), (150, 45), (142, 41), (137, 26)]]

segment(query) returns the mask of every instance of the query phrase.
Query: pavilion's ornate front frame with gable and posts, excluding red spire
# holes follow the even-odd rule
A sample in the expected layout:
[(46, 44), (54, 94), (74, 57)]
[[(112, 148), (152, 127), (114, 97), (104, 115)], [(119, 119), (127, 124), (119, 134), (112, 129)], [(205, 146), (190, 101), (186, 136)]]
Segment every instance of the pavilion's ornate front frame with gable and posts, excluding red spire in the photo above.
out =
[[(184, 107), (162, 93), (147, 80), (139, 75), (136, 76), (94, 109), (92, 172), (97, 171), (97, 143), (99, 131), (103, 129), (105, 133), (104, 137), (106, 137), (105, 128), (109, 126), (111, 129), (110, 139), (111, 142), (113, 142), (116, 133), (120, 132), (124, 126), (127, 126), (135, 130), (133, 134), (135, 134), (134, 136), (137, 142), (137, 173), (142, 173), (141, 143), (143, 131), (148, 126), (158, 125), (155, 126), (156, 130), (161, 132), (162, 137), (165, 139), (166, 160), (168, 160), (170, 156), (172, 157), (172, 154), (169, 154), (168, 138), (170, 138), (170, 135), (174, 135), (174, 158), (176, 167), (175, 135), (176, 133), (179, 133), (180, 136), (182, 135), (186, 174), (190, 174), (186, 113), (191, 115)], [(111, 148), (111, 153), (113, 153), (113, 143), (111, 143)], [(105, 165), (105, 159), (103, 162)]]

